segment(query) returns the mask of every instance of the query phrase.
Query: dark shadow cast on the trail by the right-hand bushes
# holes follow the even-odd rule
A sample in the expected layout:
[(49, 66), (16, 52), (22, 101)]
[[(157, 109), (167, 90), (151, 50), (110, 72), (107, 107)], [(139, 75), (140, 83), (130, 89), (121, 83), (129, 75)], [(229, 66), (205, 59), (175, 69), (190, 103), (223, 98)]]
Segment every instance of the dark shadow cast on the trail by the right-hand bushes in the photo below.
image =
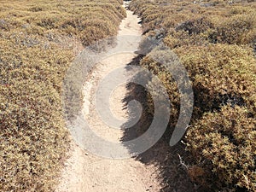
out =
[[(143, 58), (142, 55), (138, 55), (128, 64), (127, 70), (130, 70), (130, 65), (138, 65), (139, 61)], [(143, 77), (135, 77), (142, 80)], [(141, 85), (134, 83), (126, 84), (127, 95), (125, 96), (124, 108), (129, 108), (128, 103), (132, 100), (137, 100), (143, 107), (143, 113), (141, 119), (136, 125), (131, 128), (126, 128), (129, 122), (132, 120), (133, 114), (136, 114), (134, 109), (129, 108), (129, 116), (131, 117), (129, 122), (123, 125), (124, 137), (121, 138), (122, 142), (131, 140), (133, 138), (141, 136), (147, 131), (149, 125), (152, 122), (152, 115), (147, 112), (147, 90)], [(189, 179), (186, 163), (189, 162), (189, 153), (184, 150), (185, 146), (183, 143), (178, 143), (174, 147), (169, 146), (169, 141), (172, 136), (172, 128), (168, 128), (161, 137), (158, 143), (154, 144), (152, 148), (149, 148), (143, 154), (139, 154), (134, 157), (140, 160), (145, 165), (154, 165), (159, 170), (158, 180), (162, 186), (160, 191), (165, 192), (195, 192), (195, 191), (206, 191), (200, 189), (195, 183), (192, 183)], [(129, 149), (129, 146), (125, 146)]]

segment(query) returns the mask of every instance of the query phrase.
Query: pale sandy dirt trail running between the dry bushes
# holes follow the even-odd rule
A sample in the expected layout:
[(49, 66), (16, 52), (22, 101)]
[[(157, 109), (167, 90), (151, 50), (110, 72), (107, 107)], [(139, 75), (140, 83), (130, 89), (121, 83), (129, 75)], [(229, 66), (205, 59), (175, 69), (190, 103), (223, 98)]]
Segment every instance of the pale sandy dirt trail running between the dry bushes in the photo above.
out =
[[(122, 21), (119, 37), (123, 35), (141, 35), (140, 20), (127, 10), (127, 18)], [(119, 38), (118, 38), (119, 39)], [(122, 41), (122, 39), (119, 39)], [(118, 42), (119, 44), (122, 42)], [(139, 42), (128, 42), (129, 46), (137, 49)], [(113, 68), (123, 67), (136, 54), (119, 54), (102, 61), (90, 74), (84, 84), (84, 116), (97, 135), (113, 142), (119, 142), (123, 137), (120, 129), (110, 129), (98, 117), (95, 110), (94, 95), (97, 84), (110, 73)], [(122, 74), (125, 78), (127, 74)], [(110, 98), (110, 108), (119, 119), (127, 119), (127, 109), (124, 108), (125, 84), (120, 85)], [(109, 160), (98, 157), (72, 144), (70, 157), (65, 163), (61, 175), (61, 183), (55, 191), (65, 192), (141, 192), (160, 191), (156, 179), (157, 171), (154, 166), (146, 166), (135, 159)]]

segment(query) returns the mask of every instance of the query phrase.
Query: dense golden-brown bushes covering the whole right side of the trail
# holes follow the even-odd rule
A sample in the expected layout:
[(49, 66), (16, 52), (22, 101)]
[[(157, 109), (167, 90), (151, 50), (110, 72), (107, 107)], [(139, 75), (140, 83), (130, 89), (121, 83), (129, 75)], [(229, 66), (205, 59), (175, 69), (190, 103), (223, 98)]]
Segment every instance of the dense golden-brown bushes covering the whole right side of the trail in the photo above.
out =
[[(131, 9), (142, 17), (148, 37), (162, 40), (179, 56), (192, 81), (195, 106), (184, 137), (194, 159), (191, 179), (216, 191), (255, 191), (255, 3), (134, 0)], [(165, 84), (173, 129), (177, 85), (149, 55), (140, 64)]]

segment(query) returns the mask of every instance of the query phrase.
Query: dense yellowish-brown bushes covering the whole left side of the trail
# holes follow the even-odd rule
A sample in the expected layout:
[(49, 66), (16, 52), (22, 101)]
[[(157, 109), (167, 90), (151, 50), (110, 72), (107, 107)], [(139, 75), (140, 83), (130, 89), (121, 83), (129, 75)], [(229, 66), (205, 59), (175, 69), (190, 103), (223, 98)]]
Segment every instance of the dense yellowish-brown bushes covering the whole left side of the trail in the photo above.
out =
[(0, 190), (54, 189), (68, 145), (62, 79), (124, 16), (115, 0), (1, 2)]

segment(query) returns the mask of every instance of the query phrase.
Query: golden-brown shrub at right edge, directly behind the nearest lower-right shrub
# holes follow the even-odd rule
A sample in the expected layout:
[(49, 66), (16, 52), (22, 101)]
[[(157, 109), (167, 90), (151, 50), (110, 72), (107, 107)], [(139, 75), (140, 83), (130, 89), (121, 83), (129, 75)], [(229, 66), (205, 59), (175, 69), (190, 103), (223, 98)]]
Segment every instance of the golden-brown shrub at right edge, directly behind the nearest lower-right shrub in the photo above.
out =
[(255, 108), (252, 93), (256, 91), (256, 67), (251, 48), (216, 44), (179, 48), (176, 53), (193, 82), (195, 113), (219, 109), (227, 103)]

